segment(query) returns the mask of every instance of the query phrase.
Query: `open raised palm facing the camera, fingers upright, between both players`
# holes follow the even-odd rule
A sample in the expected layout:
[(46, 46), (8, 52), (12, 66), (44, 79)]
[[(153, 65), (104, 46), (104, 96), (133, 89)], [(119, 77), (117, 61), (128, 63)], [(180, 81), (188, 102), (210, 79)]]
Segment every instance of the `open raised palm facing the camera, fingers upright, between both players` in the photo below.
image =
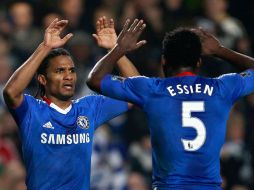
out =
[(105, 16), (96, 22), (96, 34), (93, 34), (99, 47), (112, 49), (116, 45), (117, 35), (114, 20), (108, 20)]

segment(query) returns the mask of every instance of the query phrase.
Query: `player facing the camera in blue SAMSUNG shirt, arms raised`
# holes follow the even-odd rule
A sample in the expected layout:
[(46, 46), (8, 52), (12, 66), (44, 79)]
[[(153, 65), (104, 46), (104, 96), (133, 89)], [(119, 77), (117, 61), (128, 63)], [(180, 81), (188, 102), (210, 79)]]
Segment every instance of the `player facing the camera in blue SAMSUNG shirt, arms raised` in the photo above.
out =
[[(67, 23), (55, 19), (50, 24), (44, 41), (14, 72), (3, 91), (19, 127), (26, 184), (31, 190), (89, 190), (94, 131), (128, 110), (126, 102), (101, 95), (72, 100), (75, 65), (70, 54), (60, 48), (72, 37), (60, 37)], [(96, 25), (98, 45), (113, 48), (117, 38), (113, 20), (100, 18)], [(125, 76), (138, 75), (125, 57), (118, 66)], [(24, 94), (36, 72), (43, 100)]]

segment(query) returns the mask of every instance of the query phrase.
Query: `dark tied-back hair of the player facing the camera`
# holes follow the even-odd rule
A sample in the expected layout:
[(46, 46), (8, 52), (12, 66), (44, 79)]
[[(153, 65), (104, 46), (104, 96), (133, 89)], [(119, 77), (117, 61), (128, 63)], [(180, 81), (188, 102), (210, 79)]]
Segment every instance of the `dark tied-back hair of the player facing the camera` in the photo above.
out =
[[(60, 56), (60, 55), (65, 55), (71, 57), (71, 54), (64, 48), (55, 48), (49, 52), (49, 54), (43, 59), (42, 63), (40, 64), (38, 70), (37, 70), (37, 75), (42, 74), (42, 75), (47, 75), (47, 68), (49, 67), (50, 60)], [(38, 97), (40, 95), (41, 98), (45, 96), (45, 88), (43, 85), (41, 85), (38, 81), (38, 90), (36, 92), (35, 97)]]

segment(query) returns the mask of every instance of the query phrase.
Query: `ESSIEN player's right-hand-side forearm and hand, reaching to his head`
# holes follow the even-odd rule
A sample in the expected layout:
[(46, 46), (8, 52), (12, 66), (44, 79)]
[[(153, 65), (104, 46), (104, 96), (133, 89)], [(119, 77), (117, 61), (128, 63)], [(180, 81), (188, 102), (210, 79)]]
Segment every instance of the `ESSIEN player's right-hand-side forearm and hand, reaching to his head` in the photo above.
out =
[(252, 57), (224, 47), (215, 36), (202, 29), (195, 29), (194, 31), (200, 36), (202, 53), (204, 55), (219, 57), (229, 61), (231, 64), (234, 64), (242, 70), (254, 69), (254, 59)]

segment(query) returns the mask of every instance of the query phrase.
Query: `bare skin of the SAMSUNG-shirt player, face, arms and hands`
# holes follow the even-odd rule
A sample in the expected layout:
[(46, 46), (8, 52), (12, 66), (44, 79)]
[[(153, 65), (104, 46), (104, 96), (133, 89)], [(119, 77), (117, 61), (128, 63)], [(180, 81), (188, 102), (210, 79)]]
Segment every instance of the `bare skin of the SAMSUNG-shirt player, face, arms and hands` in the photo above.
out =
[[(63, 38), (60, 37), (67, 24), (67, 20), (55, 19), (45, 30), (43, 42), (30, 58), (13, 73), (3, 91), (8, 107), (16, 108), (22, 103), (24, 90), (44, 58), (53, 48), (62, 47), (73, 36), (67, 34)], [(103, 48), (113, 48), (117, 39), (114, 21), (101, 17), (97, 21), (96, 27), (97, 34), (93, 36), (96, 38), (97, 44)], [(139, 75), (137, 69), (125, 56), (117, 62), (117, 66), (125, 77)], [(57, 56), (51, 59), (46, 74), (38, 75), (38, 81), (45, 88), (46, 97), (62, 109), (69, 107), (72, 103), (71, 98), (75, 92), (76, 80), (75, 66), (69, 56)]]

